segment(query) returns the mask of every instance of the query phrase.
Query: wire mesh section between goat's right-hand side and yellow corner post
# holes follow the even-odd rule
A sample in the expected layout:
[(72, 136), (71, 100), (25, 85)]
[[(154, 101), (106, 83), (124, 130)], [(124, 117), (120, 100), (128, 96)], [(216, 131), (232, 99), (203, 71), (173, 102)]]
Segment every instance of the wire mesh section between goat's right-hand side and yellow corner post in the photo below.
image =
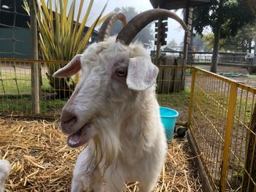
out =
[(189, 96), (191, 93), (191, 69), (185, 66), (159, 67), (157, 97), (159, 104), (179, 112), (177, 123), (187, 124)]

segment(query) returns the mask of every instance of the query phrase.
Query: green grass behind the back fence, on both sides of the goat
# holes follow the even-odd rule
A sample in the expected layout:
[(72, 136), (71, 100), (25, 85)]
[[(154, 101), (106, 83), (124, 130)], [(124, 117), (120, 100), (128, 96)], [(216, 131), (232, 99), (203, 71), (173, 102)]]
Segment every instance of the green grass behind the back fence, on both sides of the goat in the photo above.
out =
[[(31, 113), (31, 74), (14, 74), (6, 72), (1, 74), (0, 93), (6, 93), (6, 96), (0, 96), (0, 112)], [(2, 83), (1, 83), (2, 82)], [(17, 84), (16, 84), (17, 82)], [(42, 76), (42, 94), (53, 91), (50, 87), (46, 75)], [(5, 92), (4, 92), (5, 91)], [(18, 95), (26, 94), (26, 96)], [(9, 96), (8, 96), (9, 94)], [(17, 95), (10, 95), (17, 94)], [(159, 94), (159, 104), (165, 107), (171, 107), (179, 112), (187, 110), (189, 104), (189, 91), (181, 93)], [(56, 114), (66, 103), (60, 99), (45, 99), (40, 101), (40, 112), (42, 114)]]

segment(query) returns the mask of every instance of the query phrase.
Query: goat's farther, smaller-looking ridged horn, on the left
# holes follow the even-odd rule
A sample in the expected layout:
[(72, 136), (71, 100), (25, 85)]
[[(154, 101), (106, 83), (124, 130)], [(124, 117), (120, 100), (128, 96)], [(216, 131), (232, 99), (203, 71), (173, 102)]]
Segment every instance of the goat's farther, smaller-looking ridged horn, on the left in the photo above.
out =
[(102, 23), (102, 26), (99, 30), (98, 42), (103, 42), (105, 38), (110, 36), (111, 27), (112, 27), (113, 23), (116, 22), (116, 20), (121, 20), (123, 28), (124, 28), (124, 26), (127, 25), (127, 18), (125, 17), (124, 14), (122, 14), (121, 12), (113, 12)]

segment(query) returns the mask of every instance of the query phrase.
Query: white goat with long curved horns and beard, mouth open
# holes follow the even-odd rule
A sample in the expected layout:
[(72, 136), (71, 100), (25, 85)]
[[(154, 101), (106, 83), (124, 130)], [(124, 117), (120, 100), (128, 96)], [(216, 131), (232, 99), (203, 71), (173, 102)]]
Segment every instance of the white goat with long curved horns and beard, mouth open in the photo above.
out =
[[(149, 19), (145, 20), (146, 15)], [(154, 85), (158, 69), (143, 46), (129, 43), (141, 28), (163, 17), (174, 18), (186, 27), (165, 9), (143, 12), (116, 39), (90, 45), (83, 55), (53, 74), (70, 77), (82, 71), (61, 112), (67, 144), (78, 147), (87, 143), (78, 156), (71, 191), (117, 192), (124, 190), (127, 181), (139, 181), (142, 192), (154, 189), (167, 150)], [(109, 33), (110, 27), (105, 28)]]

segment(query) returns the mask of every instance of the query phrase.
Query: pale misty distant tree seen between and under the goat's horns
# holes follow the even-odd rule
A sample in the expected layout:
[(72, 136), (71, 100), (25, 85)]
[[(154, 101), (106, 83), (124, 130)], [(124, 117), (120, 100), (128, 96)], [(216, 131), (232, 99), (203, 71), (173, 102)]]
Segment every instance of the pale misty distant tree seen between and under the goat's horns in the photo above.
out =
[[(114, 11), (122, 12), (127, 17), (127, 22), (134, 18), (136, 15), (138, 15), (138, 12), (136, 12), (135, 7), (116, 7)], [(116, 22), (113, 24), (113, 27), (111, 28), (110, 35), (116, 35), (119, 33), (119, 31), (121, 31), (121, 22)], [(143, 30), (141, 30), (140, 33), (135, 37), (135, 41), (136, 40), (151, 45), (151, 41), (154, 40), (151, 25), (148, 25), (145, 28), (143, 28)]]

